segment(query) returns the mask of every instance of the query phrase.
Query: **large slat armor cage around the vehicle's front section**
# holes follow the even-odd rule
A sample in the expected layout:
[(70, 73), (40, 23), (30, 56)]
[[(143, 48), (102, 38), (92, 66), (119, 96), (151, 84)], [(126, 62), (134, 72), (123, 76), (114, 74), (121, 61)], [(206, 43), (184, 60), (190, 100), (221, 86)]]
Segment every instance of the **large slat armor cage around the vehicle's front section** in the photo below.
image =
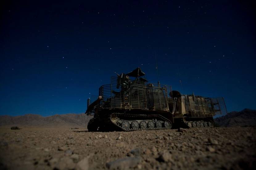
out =
[(99, 88), (100, 108), (169, 111), (173, 102), (171, 86), (147, 83), (140, 79), (111, 77), (111, 84)]

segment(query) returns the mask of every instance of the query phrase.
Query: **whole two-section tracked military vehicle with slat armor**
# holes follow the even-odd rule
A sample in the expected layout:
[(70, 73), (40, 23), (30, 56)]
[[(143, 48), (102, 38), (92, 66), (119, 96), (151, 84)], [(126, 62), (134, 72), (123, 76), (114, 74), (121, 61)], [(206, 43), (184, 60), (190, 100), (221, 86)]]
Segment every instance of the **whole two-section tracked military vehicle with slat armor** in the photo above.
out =
[(140, 67), (116, 74), (87, 100), (89, 131), (213, 127), (213, 116), (227, 113), (224, 98), (183, 95), (170, 85), (149, 83)]

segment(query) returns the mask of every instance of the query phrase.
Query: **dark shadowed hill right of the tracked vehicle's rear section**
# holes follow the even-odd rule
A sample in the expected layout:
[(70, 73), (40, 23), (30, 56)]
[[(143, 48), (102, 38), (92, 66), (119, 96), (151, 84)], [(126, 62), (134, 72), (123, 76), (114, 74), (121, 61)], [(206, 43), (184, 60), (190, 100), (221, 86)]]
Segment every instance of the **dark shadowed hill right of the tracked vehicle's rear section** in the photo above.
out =
[(214, 122), (221, 127), (256, 126), (256, 110), (232, 111), (227, 115), (215, 118)]

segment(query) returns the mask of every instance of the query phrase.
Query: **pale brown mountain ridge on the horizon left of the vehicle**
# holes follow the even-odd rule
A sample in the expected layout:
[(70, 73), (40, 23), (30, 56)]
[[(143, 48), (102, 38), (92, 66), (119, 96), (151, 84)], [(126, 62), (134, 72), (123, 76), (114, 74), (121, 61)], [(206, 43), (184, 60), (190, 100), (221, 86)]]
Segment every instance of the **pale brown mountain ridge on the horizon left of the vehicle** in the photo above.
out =
[(27, 114), (23, 116), (0, 116), (0, 126), (41, 126), (41, 127), (87, 127), (93, 116), (82, 114), (63, 114), (43, 117)]

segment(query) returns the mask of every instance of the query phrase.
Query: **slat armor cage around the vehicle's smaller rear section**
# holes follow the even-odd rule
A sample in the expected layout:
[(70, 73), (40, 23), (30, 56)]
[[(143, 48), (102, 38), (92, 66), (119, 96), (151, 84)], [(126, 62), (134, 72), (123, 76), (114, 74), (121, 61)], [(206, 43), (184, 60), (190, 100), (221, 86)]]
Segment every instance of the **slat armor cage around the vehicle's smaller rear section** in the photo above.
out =
[(186, 113), (191, 117), (213, 117), (227, 113), (223, 97), (210, 98), (198, 95), (183, 95)]

